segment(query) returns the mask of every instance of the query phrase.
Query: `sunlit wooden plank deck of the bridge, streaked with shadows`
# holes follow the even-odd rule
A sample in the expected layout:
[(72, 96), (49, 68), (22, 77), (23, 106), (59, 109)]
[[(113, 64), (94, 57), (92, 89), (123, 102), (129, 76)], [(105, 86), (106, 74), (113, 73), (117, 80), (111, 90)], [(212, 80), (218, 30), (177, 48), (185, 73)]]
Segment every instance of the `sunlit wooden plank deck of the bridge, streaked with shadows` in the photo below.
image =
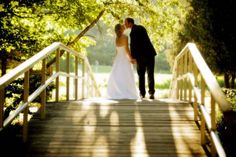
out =
[(206, 156), (190, 104), (88, 99), (46, 111), (46, 120), (30, 120), (27, 156)]

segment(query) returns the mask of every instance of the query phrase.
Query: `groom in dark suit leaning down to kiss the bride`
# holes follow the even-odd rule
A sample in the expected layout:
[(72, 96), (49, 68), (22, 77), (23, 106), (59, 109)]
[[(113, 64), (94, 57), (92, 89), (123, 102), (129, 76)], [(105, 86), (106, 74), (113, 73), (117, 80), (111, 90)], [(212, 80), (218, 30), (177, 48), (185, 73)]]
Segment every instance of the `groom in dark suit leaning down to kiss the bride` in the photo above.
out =
[[(148, 37), (146, 29), (141, 25), (134, 24), (134, 19), (126, 18), (125, 27), (130, 28), (130, 50), (131, 56), (136, 60), (137, 73), (139, 76), (140, 97), (144, 98), (145, 90), (145, 73), (148, 74), (149, 98), (154, 99), (155, 80), (154, 66), (156, 51)], [(133, 62), (134, 63), (134, 62)]]

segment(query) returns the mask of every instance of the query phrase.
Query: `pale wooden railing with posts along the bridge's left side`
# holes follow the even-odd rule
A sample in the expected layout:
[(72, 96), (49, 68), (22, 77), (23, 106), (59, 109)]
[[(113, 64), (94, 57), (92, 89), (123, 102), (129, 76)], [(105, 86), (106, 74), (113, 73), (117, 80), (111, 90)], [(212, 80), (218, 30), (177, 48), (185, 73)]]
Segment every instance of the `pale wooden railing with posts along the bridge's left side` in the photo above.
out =
[[(61, 55), (62, 52), (66, 55), (66, 72), (63, 72), (63, 70), (60, 69), (60, 61), (63, 57), (63, 55)], [(46, 65), (50, 60), (49, 56), (56, 57), (56, 62), (54, 65), (55, 69), (52, 70), (54, 72), (51, 72), (48, 76)], [(74, 57), (73, 62), (71, 62), (71, 56)], [(39, 65), (41, 65), (41, 85), (33, 93), (29, 94), (30, 71), (35, 66)], [(70, 72), (70, 65), (74, 65), (73, 73)], [(5, 88), (19, 77), (23, 77), (24, 79), (23, 101), (8, 117), (4, 119), (4, 104), (6, 103)], [(28, 110), (30, 103), (40, 96), (40, 114), (42, 119), (45, 118), (45, 106), (47, 101), (46, 88), (53, 83), (53, 81), (55, 81), (55, 101), (60, 101), (60, 77), (66, 77), (66, 100), (71, 100), (70, 79), (74, 80), (74, 100), (79, 99), (79, 94), (80, 98), (100, 96), (100, 91), (97, 87), (87, 57), (63, 45), (62, 43), (55, 42), (0, 78), (0, 131), (23, 112), (23, 141), (26, 141), (28, 132)], [(80, 93), (79, 89), (81, 91)]]

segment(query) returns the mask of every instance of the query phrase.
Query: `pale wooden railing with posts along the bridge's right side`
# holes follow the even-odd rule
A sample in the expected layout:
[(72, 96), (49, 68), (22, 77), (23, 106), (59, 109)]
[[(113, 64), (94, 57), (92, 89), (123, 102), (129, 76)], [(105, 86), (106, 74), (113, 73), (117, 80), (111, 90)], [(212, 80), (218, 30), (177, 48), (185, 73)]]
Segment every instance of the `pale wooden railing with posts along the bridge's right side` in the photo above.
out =
[(200, 120), (201, 144), (210, 137), (211, 155), (225, 157), (216, 130), (216, 107), (223, 114), (232, 108), (194, 43), (188, 43), (175, 58), (170, 97), (193, 103), (194, 120)]

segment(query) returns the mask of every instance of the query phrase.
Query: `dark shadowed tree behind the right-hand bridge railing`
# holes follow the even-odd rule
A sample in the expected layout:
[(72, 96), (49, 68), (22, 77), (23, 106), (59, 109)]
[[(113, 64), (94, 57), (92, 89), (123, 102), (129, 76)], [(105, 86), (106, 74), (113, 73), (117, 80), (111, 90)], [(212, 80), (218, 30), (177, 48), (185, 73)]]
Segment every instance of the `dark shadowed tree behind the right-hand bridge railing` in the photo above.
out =
[[(210, 68), (224, 74), (225, 86), (234, 87), (236, 73), (235, 56), (235, 9), (233, 0), (192, 0), (187, 22), (176, 40), (176, 52), (187, 42), (195, 42)], [(172, 52), (172, 56), (176, 54)], [(172, 57), (173, 58), (173, 57)]]

